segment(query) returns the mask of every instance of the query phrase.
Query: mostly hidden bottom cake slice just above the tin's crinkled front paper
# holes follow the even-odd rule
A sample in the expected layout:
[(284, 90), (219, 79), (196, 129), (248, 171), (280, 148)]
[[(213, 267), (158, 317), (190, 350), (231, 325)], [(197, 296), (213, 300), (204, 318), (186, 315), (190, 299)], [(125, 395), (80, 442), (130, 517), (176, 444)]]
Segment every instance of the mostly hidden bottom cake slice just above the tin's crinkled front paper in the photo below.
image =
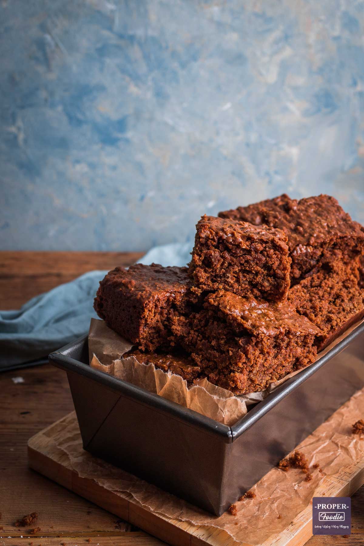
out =
[(133, 349), (128, 353), (123, 354), (123, 358), (134, 357), (140, 364), (154, 364), (154, 366), (164, 372), (170, 371), (175, 375), (186, 379), (188, 384), (192, 384), (194, 379), (200, 375), (201, 368), (198, 366), (188, 354), (169, 353), (142, 353), (139, 349)]

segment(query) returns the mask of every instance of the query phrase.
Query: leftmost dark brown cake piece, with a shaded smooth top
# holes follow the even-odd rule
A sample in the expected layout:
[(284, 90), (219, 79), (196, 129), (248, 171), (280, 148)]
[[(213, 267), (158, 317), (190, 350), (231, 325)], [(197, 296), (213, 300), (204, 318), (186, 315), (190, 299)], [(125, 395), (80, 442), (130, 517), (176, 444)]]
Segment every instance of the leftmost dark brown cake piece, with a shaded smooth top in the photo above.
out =
[(187, 268), (135, 264), (104, 277), (94, 300), (98, 316), (142, 350), (166, 345), (172, 313), (187, 312)]

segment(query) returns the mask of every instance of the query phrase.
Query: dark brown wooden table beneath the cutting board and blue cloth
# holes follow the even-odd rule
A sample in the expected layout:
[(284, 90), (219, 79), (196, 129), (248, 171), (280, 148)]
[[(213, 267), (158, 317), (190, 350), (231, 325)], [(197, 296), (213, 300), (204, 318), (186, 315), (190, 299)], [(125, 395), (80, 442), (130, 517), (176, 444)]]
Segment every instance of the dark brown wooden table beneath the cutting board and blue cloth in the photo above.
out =
[[(92, 269), (130, 265), (138, 253), (0, 252), (0, 309), (20, 307), (32, 296)], [(13, 378), (22, 377), (23, 382)], [(0, 373), (0, 539), (34, 546), (153, 546), (163, 544), (27, 467), (27, 440), (73, 410), (67, 377), (48, 364)], [(25, 538), (18, 518), (39, 513), (37, 536)], [(352, 498), (349, 538), (312, 537), (309, 546), (364, 545), (364, 487)], [(22, 536), (22, 538), (21, 538)], [(41, 538), (40, 538), (41, 537)]]

